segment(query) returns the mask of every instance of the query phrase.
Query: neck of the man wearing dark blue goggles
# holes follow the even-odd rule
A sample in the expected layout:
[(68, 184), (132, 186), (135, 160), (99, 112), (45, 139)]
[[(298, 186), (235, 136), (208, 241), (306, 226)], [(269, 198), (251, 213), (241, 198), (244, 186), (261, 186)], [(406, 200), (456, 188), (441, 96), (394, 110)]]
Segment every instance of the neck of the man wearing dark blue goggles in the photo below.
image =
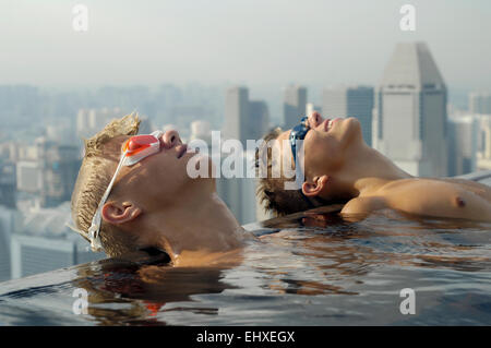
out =
[(412, 178), (364, 142), (349, 151), (346, 157), (348, 160), (335, 179), (351, 197), (370, 194), (390, 181)]

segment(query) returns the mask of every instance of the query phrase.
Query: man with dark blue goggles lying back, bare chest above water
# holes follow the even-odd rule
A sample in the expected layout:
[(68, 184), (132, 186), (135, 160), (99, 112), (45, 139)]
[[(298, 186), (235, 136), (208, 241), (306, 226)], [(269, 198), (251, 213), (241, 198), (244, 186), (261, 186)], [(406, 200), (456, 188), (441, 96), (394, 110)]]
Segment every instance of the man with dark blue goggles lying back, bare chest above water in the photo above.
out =
[[(266, 207), (278, 215), (344, 202), (340, 214), (346, 217), (366, 217), (391, 208), (420, 216), (491, 221), (491, 188), (463, 179), (410, 176), (364, 143), (356, 118), (330, 120), (313, 112), (292, 130), (275, 130), (264, 140), (278, 141), (275, 146), (279, 146), (276, 154), (280, 158), (267, 158), (270, 172), (261, 179), (258, 192)], [(304, 182), (300, 190), (285, 190), (285, 182), (295, 178), (286, 179), (283, 172), (274, 178), (271, 168), (283, 168), (286, 160), (295, 165), (299, 149), (291, 144), (296, 140), (303, 141), (303, 168), (299, 169)]]

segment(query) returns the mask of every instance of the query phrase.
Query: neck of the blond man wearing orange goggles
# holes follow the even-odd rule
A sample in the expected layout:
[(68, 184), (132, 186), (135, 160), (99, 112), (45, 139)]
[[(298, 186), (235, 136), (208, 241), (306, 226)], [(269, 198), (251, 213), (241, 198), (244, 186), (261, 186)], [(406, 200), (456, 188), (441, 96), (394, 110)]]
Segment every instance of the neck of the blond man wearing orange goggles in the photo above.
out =
[(196, 195), (145, 217), (145, 229), (157, 231), (157, 243), (176, 262), (183, 252), (224, 253), (243, 244), (247, 235), (216, 192)]

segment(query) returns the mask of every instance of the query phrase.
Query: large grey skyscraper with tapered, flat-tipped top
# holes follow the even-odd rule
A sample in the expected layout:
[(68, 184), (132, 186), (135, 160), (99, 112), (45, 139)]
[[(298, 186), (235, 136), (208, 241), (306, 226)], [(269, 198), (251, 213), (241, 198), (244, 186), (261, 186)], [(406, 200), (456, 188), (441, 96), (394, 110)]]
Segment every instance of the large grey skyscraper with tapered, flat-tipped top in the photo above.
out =
[(410, 175), (445, 177), (446, 86), (424, 43), (397, 45), (375, 105), (372, 146)]

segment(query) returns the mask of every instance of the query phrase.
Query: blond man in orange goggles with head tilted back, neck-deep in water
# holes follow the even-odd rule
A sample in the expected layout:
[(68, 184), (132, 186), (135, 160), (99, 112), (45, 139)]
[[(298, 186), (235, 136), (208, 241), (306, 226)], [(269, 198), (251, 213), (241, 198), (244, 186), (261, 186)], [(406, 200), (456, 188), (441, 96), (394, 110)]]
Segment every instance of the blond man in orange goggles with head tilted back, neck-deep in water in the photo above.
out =
[(132, 136), (139, 123), (130, 115), (85, 141), (72, 194), (75, 229), (109, 256), (153, 248), (173, 265), (233, 260), (249, 237), (218, 197), (215, 179), (188, 176), (195, 153), (178, 132)]

